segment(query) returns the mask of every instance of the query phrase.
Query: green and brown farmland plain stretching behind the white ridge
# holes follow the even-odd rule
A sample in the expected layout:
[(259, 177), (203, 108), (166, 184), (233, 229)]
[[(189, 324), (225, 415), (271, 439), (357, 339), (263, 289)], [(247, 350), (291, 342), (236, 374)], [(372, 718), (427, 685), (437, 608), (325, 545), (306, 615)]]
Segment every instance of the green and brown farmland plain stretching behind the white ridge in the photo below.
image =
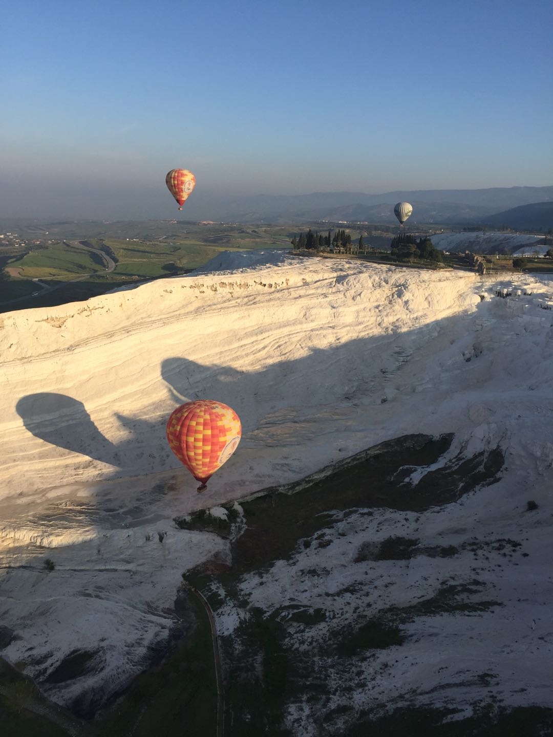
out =
[[(313, 224), (326, 233), (330, 223)], [(83, 301), (150, 279), (189, 273), (222, 251), (291, 248), (291, 239), (307, 226), (246, 226), (238, 223), (192, 223), (186, 220), (134, 222), (7, 223), (10, 238), (0, 240), (0, 312), (53, 307)], [(376, 229), (371, 229), (371, 228)], [(8, 228), (11, 228), (8, 231)], [(330, 226), (335, 230), (335, 226)], [(389, 252), (397, 228), (348, 228), (352, 242), (363, 235), (367, 261), (394, 263)], [(424, 234), (426, 231), (424, 231)], [(422, 234), (419, 233), (419, 235)], [(336, 256), (336, 254), (322, 254)], [(351, 254), (338, 257), (352, 258)], [(356, 256), (353, 256), (354, 258)], [(512, 256), (484, 256), (487, 273), (512, 273)], [(428, 261), (401, 259), (399, 265), (436, 268)], [(444, 256), (443, 266), (473, 269), (462, 254)], [(526, 259), (526, 271), (551, 271), (551, 259)]]

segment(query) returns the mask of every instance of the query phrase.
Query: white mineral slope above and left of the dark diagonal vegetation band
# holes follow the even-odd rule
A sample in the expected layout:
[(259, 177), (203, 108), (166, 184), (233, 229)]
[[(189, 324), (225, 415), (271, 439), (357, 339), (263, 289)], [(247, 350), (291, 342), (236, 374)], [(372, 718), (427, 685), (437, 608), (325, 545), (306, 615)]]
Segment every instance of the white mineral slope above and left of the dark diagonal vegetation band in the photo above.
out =
[[(47, 685), (61, 703), (128, 680), (167, 638), (181, 573), (228, 554), (177, 514), (419, 432), (456, 433), (451, 453), (499, 444), (507, 497), (551, 507), (547, 277), (502, 299), (511, 282), (467, 272), (265, 256), (1, 316), (2, 655), (44, 683), (96, 643), (91, 674)], [(164, 434), (201, 397), (243, 422), (204, 495)]]

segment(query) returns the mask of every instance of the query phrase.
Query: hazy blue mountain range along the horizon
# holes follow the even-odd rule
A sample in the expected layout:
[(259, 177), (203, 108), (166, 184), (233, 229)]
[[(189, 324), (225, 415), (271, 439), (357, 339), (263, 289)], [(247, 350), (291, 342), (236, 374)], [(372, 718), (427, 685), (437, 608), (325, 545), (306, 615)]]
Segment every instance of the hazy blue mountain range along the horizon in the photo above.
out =
[[(221, 203), (213, 219), (238, 223), (366, 221), (395, 223), (394, 205), (413, 206), (411, 223), (490, 222), (490, 216), (533, 203), (553, 203), (553, 186), (490, 189), (420, 189), (367, 195), (364, 192), (313, 192), (310, 195), (255, 195)], [(501, 225), (508, 225), (501, 220)], [(531, 227), (534, 227), (532, 225)], [(549, 227), (549, 225), (547, 226)]]

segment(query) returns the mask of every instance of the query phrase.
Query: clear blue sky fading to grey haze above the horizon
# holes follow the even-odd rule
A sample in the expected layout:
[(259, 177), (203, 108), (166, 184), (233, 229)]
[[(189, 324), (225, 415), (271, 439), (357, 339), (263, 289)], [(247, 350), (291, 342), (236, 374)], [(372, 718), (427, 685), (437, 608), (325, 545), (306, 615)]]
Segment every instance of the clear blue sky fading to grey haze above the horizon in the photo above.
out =
[[(0, 217), (553, 184), (551, 0), (17, 0)], [(183, 211), (184, 214), (184, 211)]]

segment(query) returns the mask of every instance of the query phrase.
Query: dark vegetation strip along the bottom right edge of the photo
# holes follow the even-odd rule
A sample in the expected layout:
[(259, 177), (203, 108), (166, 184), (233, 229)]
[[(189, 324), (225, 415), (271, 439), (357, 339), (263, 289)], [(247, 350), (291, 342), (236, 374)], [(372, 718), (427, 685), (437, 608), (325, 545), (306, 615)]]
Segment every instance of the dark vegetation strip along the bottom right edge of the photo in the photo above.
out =
[(478, 708), (469, 719), (445, 722), (454, 709), (402, 708), (378, 719), (364, 719), (344, 737), (545, 737), (553, 734), (553, 709), (495, 706)]

